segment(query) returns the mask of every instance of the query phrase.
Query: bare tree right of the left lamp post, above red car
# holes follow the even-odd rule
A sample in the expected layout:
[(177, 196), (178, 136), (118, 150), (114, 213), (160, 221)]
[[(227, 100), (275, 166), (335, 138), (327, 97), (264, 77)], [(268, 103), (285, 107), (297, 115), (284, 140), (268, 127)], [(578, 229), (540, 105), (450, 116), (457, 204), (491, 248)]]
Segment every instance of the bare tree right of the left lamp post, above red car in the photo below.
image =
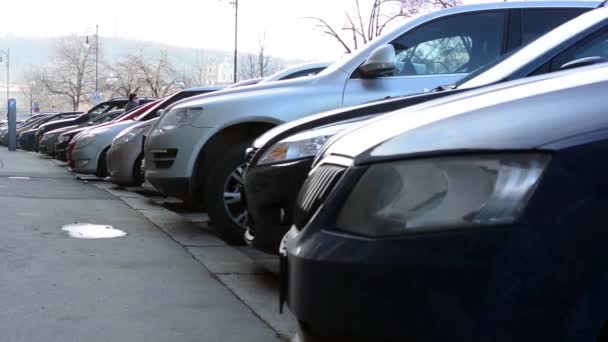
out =
[(165, 97), (183, 84), (182, 77), (169, 61), (166, 50), (161, 50), (158, 60), (153, 63), (148, 61), (143, 51), (139, 55), (129, 56), (129, 63), (136, 67), (144, 88), (151, 96)]

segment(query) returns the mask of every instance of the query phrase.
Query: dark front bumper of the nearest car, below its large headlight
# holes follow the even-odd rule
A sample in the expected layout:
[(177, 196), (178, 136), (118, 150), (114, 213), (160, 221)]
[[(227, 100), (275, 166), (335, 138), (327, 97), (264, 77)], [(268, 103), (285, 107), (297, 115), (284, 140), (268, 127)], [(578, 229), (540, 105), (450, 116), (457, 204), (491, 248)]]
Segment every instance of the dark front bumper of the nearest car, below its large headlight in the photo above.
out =
[(297, 319), (339, 336), (587, 340), (572, 328), (580, 321), (577, 303), (589, 296), (590, 279), (607, 270), (594, 256), (606, 239), (573, 238), (581, 234), (578, 226), (383, 239), (323, 228), (292, 228), (286, 235), (282, 297)]

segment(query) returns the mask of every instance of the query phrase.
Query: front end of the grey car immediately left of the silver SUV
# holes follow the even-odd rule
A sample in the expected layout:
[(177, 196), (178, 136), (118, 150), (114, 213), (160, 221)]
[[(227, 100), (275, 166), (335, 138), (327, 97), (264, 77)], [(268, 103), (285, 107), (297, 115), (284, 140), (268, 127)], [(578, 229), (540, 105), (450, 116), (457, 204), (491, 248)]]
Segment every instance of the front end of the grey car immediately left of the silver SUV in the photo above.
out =
[(158, 118), (129, 127), (114, 138), (106, 157), (110, 182), (134, 186), (145, 181), (142, 170), (144, 135), (156, 121)]

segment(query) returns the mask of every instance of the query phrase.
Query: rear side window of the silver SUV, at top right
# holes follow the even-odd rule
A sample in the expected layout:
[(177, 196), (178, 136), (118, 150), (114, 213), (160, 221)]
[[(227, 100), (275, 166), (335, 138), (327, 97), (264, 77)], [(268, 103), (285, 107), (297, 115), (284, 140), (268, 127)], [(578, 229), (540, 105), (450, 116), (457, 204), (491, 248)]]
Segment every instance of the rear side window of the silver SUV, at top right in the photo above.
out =
[(522, 44), (528, 44), (566, 21), (581, 15), (581, 8), (534, 8), (522, 11)]

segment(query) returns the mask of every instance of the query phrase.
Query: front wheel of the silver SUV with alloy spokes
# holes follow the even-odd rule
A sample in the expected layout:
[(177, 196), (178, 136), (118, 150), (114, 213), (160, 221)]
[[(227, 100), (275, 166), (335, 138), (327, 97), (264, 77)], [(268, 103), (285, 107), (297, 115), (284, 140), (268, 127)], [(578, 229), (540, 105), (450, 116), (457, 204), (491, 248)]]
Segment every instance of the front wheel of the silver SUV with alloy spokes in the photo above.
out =
[(241, 201), (245, 149), (240, 144), (230, 149), (209, 170), (205, 180), (205, 205), (218, 233), (231, 243), (243, 244), (243, 233), (247, 229), (249, 213)]

